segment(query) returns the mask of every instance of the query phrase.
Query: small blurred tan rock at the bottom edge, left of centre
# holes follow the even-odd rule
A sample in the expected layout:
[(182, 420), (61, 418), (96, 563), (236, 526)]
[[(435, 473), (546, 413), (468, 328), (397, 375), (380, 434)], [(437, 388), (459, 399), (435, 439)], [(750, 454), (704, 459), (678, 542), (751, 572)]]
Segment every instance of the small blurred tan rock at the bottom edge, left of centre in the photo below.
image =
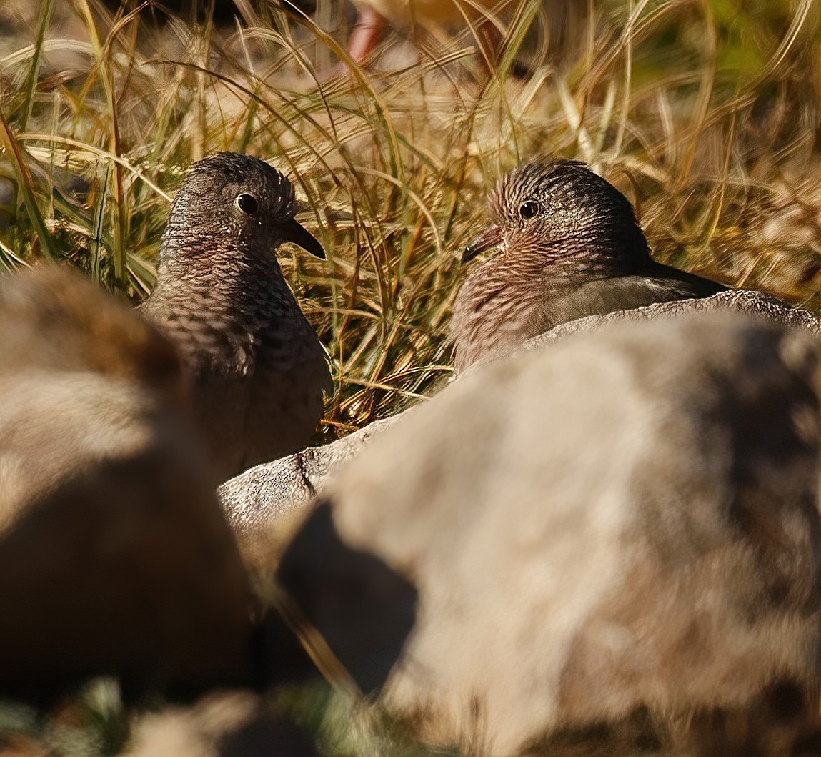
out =
[(216, 692), (189, 708), (140, 718), (125, 757), (318, 757), (299, 730), (247, 691)]

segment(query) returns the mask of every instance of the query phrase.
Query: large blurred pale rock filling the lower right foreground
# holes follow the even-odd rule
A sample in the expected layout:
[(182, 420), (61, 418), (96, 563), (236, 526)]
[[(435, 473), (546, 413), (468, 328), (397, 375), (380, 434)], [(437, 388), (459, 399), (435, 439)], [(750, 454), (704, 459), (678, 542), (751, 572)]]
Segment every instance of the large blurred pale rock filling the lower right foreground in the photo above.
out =
[(359, 627), (327, 590), (337, 554), (404, 578), (406, 643), (391, 624), (410, 594), (374, 594), (382, 649), (404, 643), (383, 703), (483, 754), (813, 685), (818, 365), (814, 335), (737, 314), (608, 325), (500, 360), (346, 466), (279, 576), (332, 649)]

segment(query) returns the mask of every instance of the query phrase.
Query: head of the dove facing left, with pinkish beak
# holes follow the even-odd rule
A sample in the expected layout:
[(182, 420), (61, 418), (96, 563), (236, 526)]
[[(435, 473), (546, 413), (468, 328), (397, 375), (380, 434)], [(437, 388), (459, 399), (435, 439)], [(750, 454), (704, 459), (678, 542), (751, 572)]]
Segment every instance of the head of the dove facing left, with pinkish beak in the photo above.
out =
[(462, 262), (494, 246), (539, 268), (629, 272), (649, 257), (630, 202), (583, 163), (542, 160), (515, 168), (489, 197), (491, 223)]

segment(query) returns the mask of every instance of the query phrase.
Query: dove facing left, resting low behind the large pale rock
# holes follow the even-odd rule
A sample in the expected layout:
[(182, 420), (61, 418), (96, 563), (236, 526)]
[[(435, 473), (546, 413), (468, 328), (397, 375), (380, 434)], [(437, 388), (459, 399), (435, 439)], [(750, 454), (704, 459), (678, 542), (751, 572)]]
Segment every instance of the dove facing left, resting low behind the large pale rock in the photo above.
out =
[(727, 287), (656, 262), (630, 202), (573, 160), (516, 167), (488, 197), (491, 223), (462, 263), (498, 247), (470, 272), (453, 305), (456, 371), (516, 349), (587, 315), (709, 297)]

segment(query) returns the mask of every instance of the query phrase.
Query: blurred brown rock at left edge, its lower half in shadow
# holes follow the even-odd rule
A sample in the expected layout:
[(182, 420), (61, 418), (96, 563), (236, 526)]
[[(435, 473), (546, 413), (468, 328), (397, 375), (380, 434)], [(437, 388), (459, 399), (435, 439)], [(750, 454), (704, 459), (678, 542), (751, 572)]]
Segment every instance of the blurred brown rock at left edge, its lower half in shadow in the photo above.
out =
[(250, 590), (176, 353), (90, 282), (0, 280), (0, 695), (245, 674)]

